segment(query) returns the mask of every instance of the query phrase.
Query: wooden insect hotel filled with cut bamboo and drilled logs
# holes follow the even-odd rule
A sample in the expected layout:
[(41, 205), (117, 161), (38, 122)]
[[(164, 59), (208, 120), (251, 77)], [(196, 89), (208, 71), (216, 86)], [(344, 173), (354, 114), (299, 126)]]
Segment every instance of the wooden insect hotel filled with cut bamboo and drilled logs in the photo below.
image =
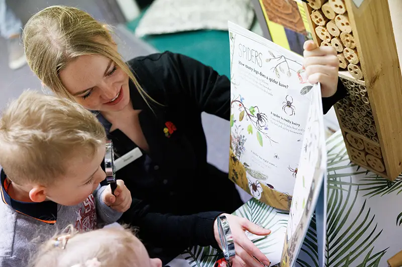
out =
[(402, 172), (402, 75), (388, 0), (309, 0), (304, 7), (316, 44), (338, 53), (348, 96), (335, 112), (350, 160), (394, 180)]

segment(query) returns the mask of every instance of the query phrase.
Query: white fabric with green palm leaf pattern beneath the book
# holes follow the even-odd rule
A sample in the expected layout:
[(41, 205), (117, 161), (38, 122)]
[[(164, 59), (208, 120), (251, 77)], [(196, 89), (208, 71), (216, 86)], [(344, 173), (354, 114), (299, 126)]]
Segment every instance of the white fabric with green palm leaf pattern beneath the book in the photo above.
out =
[[(327, 140), (327, 267), (387, 266), (402, 249), (402, 176), (390, 182), (350, 162), (342, 133)], [(272, 230), (265, 238), (250, 239), (272, 261), (280, 262), (288, 212), (252, 198), (236, 212)], [(319, 267), (315, 217), (296, 266)], [(182, 254), (189, 266), (212, 267), (222, 254), (212, 247), (191, 247)]]

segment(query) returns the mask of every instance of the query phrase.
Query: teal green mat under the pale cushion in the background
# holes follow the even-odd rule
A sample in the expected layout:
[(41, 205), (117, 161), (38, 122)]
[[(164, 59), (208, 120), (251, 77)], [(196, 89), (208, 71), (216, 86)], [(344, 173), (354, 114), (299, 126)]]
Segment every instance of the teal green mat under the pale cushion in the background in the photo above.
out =
[[(142, 15), (145, 11), (142, 12)], [(142, 15), (126, 24), (135, 32)], [(192, 31), (152, 35), (142, 38), (160, 52), (170, 51), (196, 59), (213, 67), (219, 74), (230, 77), (229, 34), (227, 31)]]

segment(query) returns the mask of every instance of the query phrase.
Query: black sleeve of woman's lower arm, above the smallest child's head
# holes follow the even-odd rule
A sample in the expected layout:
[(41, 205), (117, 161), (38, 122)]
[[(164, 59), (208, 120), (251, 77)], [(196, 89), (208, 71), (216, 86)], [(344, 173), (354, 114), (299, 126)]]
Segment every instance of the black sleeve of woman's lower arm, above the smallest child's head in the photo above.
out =
[(181, 216), (161, 214), (153, 212), (144, 201), (133, 199), (121, 222), (138, 226), (140, 238), (152, 245), (212, 245), (219, 249), (214, 235), (214, 222), (222, 213), (209, 211)]

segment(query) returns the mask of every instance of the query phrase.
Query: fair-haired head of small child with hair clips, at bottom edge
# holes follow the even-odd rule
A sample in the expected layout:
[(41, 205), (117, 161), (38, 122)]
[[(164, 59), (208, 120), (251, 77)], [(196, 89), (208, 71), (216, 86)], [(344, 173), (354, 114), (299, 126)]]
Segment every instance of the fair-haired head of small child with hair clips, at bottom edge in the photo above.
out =
[[(161, 267), (142, 242), (121, 226), (59, 235), (45, 242), (32, 267)], [(92, 264), (92, 265), (91, 265)]]

